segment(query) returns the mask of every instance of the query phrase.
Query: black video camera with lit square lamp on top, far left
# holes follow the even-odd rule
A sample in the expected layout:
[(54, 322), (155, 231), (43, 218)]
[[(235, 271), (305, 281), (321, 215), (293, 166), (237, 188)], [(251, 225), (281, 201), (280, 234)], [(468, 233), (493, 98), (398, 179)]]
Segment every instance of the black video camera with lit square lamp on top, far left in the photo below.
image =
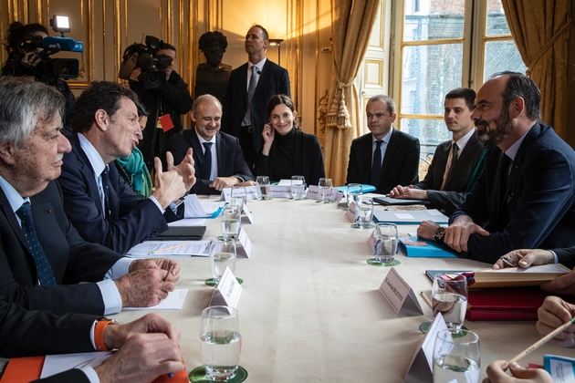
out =
[[(76, 58), (50, 58), (59, 51), (83, 52), (84, 43), (74, 41), (73, 38), (64, 37), (64, 32), (69, 32), (68, 16), (54, 16), (50, 19), (50, 26), (61, 37), (32, 36), (30, 39), (14, 48), (13, 55), (9, 57), (9, 67), (13, 76), (34, 76), (37, 81), (53, 83), (56, 78), (78, 78), (79, 62)], [(32, 61), (39, 62), (30, 65), (22, 62), (22, 58), (29, 52), (42, 50)], [(8, 64), (8, 63), (7, 63)]]

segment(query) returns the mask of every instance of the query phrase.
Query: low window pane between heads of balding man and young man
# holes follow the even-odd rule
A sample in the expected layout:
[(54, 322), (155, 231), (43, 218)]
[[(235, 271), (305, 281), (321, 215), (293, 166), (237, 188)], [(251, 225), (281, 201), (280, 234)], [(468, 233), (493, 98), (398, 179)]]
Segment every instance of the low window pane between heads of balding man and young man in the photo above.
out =
[(401, 129), (419, 139), (421, 159), (433, 156), (437, 145), (451, 140), (443, 119), (402, 119)]

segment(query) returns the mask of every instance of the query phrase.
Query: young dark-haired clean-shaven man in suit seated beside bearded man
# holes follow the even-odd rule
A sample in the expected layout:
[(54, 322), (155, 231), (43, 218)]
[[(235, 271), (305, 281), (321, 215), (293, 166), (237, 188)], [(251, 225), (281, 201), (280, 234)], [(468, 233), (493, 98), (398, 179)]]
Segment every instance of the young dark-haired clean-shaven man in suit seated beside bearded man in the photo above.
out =
[(437, 146), (423, 181), (397, 185), (390, 191), (391, 197), (428, 200), (431, 208), (447, 215), (464, 202), (471, 176), (485, 151), (471, 119), (475, 101), (476, 92), (470, 88), (455, 88), (445, 95), (444, 120), (452, 140)]

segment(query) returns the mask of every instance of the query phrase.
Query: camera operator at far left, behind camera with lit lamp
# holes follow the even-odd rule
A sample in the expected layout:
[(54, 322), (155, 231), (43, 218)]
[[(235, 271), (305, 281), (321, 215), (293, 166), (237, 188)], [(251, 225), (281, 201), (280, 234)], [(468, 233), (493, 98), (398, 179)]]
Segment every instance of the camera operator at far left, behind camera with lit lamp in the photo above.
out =
[[(42, 40), (47, 37), (47, 28), (40, 24), (27, 24), (15, 22), (10, 25), (8, 34), (5, 36), (5, 49), (8, 59), (2, 66), (2, 76), (17, 76), (27, 78), (30, 81), (40, 81), (51, 85), (59, 90), (66, 98), (66, 110), (62, 116), (65, 135), (72, 133), (72, 119), (74, 116), (74, 104), (76, 98), (68, 87), (68, 83), (51, 73), (46, 65), (50, 53), (42, 45)], [(78, 77), (78, 73), (76, 76)], [(71, 77), (66, 77), (71, 78)]]

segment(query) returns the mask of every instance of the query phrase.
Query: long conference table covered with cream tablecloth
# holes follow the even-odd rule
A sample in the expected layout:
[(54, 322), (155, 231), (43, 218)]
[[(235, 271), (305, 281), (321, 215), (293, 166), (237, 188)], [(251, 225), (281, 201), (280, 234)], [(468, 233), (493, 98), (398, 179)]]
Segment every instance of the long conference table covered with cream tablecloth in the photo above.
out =
[[(398, 254), (401, 264), (394, 269), (423, 308), (423, 315), (398, 316), (378, 291), (390, 267), (367, 264), (371, 230), (352, 228), (334, 203), (274, 198), (248, 201), (247, 206), (254, 223), (242, 227), (253, 249), (235, 267), (235, 275), (244, 280), (237, 308), (246, 381), (403, 382), (424, 338), (419, 326), (433, 319), (420, 295), (431, 295), (425, 270), (490, 267), (459, 258)], [(204, 240), (221, 235), (219, 219), (206, 220), (206, 226)], [(398, 227), (401, 236), (416, 229)], [(179, 327), (190, 372), (202, 364), (200, 316), (214, 287), (204, 284), (211, 277), (208, 258), (177, 260), (182, 273), (176, 288), (189, 289), (183, 309), (154, 312)], [(111, 317), (125, 323), (151, 311), (123, 311)], [(489, 363), (514, 357), (539, 338), (534, 321), (465, 321), (465, 326), (480, 336), (482, 378)], [(519, 363), (543, 364), (544, 354), (570, 352), (548, 344)]]

